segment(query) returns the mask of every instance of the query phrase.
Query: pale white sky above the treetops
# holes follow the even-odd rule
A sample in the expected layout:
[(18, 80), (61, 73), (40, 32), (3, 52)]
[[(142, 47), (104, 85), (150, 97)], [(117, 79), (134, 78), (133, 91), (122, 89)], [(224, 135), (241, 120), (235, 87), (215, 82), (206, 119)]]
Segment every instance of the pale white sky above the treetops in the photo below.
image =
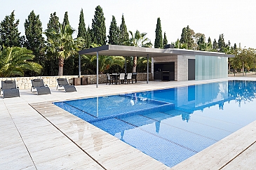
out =
[(154, 44), (157, 18), (161, 19), (161, 28), (166, 32), (168, 43), (180, 38), (182, 29), (189, 27), (195, 33), (210, 36), (218, 41), (224, 34), (224, 41), (244, 48), (256, 48), (256, 1), (255, 0), (0, 0), (0, 21), (15, 10), (15, 19), (25, 35), (24, 23), (29, 13), (34, 10), (42, 22), (43, 31), (47, 29), (50, 13), (56, 12), (63, 22), (67, 11), (69, 23), (77, 29), (79, 15), (83, 8), (86, 28), (91, 27), (96, 6), (100, 5), (105, 15), (107, 35), (112, 15), (118, 26), (123, 14), (128, 31), (146, 32), (147, 38)]

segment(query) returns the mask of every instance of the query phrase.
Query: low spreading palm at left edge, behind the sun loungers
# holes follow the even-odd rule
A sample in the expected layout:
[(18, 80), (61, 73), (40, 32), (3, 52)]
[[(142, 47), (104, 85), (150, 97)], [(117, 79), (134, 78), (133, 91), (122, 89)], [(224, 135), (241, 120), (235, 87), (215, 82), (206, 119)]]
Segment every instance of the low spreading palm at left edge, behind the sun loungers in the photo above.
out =
[(40, 73), (42, 66), (32, 62), (32, 50), (19, 47), (4, 47), (0, 50), (0, 77), (24, 76), (26, 70)]

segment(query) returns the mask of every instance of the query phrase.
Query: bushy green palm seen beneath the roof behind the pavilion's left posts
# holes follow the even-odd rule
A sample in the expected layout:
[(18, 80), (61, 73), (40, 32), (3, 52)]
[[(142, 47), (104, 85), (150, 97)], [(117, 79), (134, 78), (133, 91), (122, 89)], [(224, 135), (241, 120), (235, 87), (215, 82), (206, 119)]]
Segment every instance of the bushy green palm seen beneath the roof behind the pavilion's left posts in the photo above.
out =
[[(96, 48), (96, 47), (99, 47), (100, 45), (91, 44), (90, 46), (92, 48)], [(90, 62), (93, 62), (95, 64), (95, 61), (97, 60), (97, 56), (84, 55), (83, 59), (89, 59)], [(118, 65), (118, 66), (121, 66), (121, 68), (123, 68), (124, 62), (125, 62), (125, 59), (122, 56), (99, 55), (99, 73), (104, 73), (111, 66), (114, 66), (114, 65)]]

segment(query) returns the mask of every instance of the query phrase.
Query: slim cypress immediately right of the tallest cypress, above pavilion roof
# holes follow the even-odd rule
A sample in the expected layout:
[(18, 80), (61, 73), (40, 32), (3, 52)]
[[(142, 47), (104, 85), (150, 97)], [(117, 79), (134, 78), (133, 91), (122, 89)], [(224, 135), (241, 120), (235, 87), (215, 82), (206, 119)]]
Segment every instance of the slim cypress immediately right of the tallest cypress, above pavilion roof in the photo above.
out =
[(116, 18), (112, 15), (112, 22), (110, 22), (109, 26), (109, 44), (118, 45), (119, 44), (119, 27), (116, 24)]

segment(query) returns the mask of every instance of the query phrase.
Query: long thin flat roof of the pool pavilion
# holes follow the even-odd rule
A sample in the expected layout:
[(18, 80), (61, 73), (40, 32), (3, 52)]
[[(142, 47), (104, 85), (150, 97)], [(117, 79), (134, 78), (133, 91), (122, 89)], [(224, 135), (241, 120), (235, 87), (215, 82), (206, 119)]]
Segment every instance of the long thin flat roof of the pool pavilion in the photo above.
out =
[(225, 55), (222, 52), (208, 52), (198, 50), (184, 50), (184, 49), (159, 49), (159, 48), (142, 48), (125, 45), (102, 45), (97, 48), (89, 48), (80, 50), (79, 55), (114, 55), (114, 56), (137, 56), (137, 57), (163, 57), (171, 55), (207, 55), (216, 57), (234, 57), (234, 55)]

